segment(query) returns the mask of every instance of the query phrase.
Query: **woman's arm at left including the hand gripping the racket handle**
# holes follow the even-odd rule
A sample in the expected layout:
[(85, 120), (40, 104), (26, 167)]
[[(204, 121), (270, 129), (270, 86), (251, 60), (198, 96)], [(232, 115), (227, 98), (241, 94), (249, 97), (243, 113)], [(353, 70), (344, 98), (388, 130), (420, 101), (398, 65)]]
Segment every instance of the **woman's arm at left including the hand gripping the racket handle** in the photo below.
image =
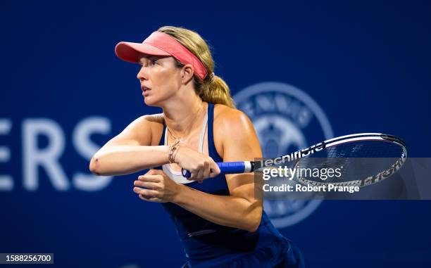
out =
[[(163, 132), (162, 115), (146, 115), (127, 126), (123, 132), (108, 141), (90, 161), (89, 169), (97, 175), (124, 175), (158, 167), (169, 162), (169, 146), (158, 146)], [(215, 177), (218, 165), (208, 155), (185, 146), (178, 149), (175, 161), (192, 175)], [(192, 176), (192, 179), (203, 179)]]

